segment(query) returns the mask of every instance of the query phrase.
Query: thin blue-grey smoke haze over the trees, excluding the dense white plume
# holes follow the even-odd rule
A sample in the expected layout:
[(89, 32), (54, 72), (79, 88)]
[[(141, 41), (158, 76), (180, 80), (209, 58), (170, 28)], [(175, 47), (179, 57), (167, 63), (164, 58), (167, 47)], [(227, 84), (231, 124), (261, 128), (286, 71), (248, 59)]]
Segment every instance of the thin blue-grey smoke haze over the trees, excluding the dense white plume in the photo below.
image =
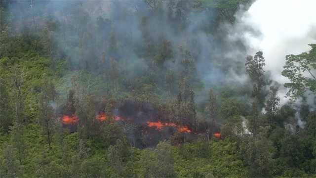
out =
[[(172, 71), (170, 86), (176, 95), (183, 70), (180, 48), (189, 50), (194, 61), (192, 88), (197, 103), (206, 100), (210, 88), (238, 88), (247, 82), (246, 53), (226, 43), (225, 33), (218, 32), (220, 13), (214, 7), (196, 7), (193, 0), (158, 0), (155, 7), (144, 0), (31, 2), (10, 3), (12, 26), (53, 42), (46, 50), (55, 60), (65, 59), (69, 67), (62, 93), (67, 93), (69, 81), (78, 76), (78, 86), (89, 83), (92, 87), (85, 88), (90, 93), (116, 88), (119, 95), (154, 83), (158, 95), (167, 96), (165, 78)], [(43, 29), (48, 32), (40, 33)], [(80, 70), (98, 77), (84, 77)]]

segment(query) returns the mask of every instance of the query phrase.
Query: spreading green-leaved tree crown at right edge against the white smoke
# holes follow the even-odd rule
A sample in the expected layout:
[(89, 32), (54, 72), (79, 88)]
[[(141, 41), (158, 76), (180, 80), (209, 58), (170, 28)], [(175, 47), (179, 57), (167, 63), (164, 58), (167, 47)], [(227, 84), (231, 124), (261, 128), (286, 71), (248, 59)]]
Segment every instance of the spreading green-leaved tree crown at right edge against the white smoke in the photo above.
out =
[(302, 96), (306, 91), (316, 93), (316, 44), (310, 44), (312, 49), (298, 55), (286, 56), (282, 75), (290, 82), (284, 84), (289, 88), (287, 95), (292, 99)]

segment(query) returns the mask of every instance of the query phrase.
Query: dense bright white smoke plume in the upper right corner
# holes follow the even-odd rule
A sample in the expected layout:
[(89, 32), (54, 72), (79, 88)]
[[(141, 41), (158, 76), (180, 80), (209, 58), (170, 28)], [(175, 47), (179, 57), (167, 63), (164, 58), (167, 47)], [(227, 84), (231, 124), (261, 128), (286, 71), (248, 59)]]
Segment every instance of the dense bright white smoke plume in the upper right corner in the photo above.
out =
[[(287, 54), (310, 50), (316, 43), (316, 0), (256, 0), (247, 11), (236, 14), (230, 40), (241, 40), (246, 52), (264, 52), (266, 71), (280, 84)], [(278, 93), (284, 103), (285, 90)]]

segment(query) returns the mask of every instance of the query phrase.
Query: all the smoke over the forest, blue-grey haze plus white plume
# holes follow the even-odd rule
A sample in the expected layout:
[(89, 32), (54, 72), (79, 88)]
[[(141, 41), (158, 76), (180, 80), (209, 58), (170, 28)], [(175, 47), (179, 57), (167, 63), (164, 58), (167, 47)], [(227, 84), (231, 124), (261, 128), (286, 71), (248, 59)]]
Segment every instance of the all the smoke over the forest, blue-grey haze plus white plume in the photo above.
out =
[[(262, 50), (266, 71), (284, 84), (285, 55), (309, 50), (316, 36), (315, 0), (257, 0), (247, 10), (241, 7), (234, 25), (223, 25), (216, 8), (196, 8), (194, 0), (161, 0), (156, 7), (143, 0), (32, 2), (10, 4), (12, 27), (16, 31), (29, 27), (35, 34), (46, 27), (50, 30), (43, 36), (51, 38), (55, 48), (47, 50), (55, 59), (66, 59), (71, 72), (64, 75), (69, 79), (63, 80), (63, 93), (70, 89), (74, 71), (85, 70), (98, 76), (78, 75), (78, 80), (93, 86), (86, 87), (91, 93), (115, 88), (116, 95), (124, 97), (154, 83), (156, 90), (151, 93), (169, 96), (165, 79), (172, 71), (170, 86), (176, 95), (183, 70), (181, 46), (194, 60), (197, 104), (205, 102), (210, 88), (233, 88), (235, 95), (247, 95), (251, 85), (244, 72), (246, 54)], [(285, 93), (284, 88), (278, 93), (282, 103)]]

